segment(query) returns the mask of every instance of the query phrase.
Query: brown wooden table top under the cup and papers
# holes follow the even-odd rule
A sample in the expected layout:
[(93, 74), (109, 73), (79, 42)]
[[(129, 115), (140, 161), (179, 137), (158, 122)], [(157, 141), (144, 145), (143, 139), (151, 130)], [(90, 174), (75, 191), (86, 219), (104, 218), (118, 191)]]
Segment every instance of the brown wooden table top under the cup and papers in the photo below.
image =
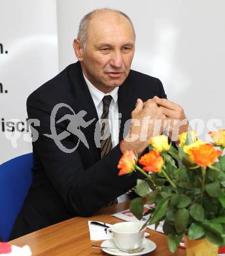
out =
[[(12, 240), (12, 244), (20, 247), (29, 245), (32, 255), (39, 256), (85, 256), (85, 255), (108, 255), (101, 249), (93, 249), (91, 244), (101, 245), (101, 241), (90, 241), (88, 220), (103, 221), (105, 223), (118, 223), (122, 220), (112, 217), (111, 214), (129, 208), (129, 202), (112, 205), (101, 209), (94, 217), (75, 217), (62, 223), (43, 228), (21, 238)], [(164, 234), (147, 229), (148, 237), (157, 245), (155, 251), (148, 255), (155, 256), (184, 256), (185, 250), (178, 249), (176, 253), (170, 253), (167, 247), (167, 237)]]

